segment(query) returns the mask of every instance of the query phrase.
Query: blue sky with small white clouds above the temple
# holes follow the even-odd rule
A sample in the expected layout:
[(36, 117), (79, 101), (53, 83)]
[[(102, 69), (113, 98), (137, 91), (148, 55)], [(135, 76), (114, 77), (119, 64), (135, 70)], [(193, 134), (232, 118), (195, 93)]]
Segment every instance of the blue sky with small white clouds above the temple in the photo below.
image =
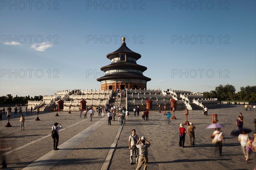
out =
[(1, 96), (99, 89), (123, 35), (150, 89), (256, 85), (255, 0), (0, 2)]

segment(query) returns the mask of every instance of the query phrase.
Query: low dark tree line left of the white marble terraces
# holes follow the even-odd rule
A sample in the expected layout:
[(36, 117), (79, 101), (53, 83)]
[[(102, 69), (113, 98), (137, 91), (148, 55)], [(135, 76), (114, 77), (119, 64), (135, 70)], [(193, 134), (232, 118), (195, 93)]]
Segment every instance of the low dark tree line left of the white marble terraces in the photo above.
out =
[(15, 96), (13, 97), (12, 95), (8, 94), (6, 96), (2, 96), (0, 97), (0, 104), (27, 104), (29, 100), (42, 100), (43, 96), (39, 95), (39, 96), (34, 96), (30, 97), (28, 96)]

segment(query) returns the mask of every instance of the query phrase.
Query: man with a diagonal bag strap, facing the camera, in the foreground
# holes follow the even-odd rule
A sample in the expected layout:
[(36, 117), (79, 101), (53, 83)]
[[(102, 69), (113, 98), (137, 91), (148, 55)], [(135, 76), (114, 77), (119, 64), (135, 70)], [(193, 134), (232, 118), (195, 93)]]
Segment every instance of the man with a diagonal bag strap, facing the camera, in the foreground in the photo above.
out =
[(138, 148), (136, 147), (137, 142), (139, 141), (139, 136), (136, 134), (136, 130), (133, 129), (132, 130), (132, 134), (129, 136), (129, 149), (130, 149), (130, 164), (134, 164), (132, 158), (133, 158), (133, 154), (135, 153), (135, 163), (138, 163), (138, 159), (139, 159), (139, 153), (138, 153)]

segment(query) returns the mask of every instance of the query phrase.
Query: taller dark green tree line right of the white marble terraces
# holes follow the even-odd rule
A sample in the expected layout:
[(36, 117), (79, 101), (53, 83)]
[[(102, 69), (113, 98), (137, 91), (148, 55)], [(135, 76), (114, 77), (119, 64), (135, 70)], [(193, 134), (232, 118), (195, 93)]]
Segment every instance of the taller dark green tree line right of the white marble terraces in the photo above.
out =
[(219, 85), (215, 90), (203, 92), (204, 98), (218, 98), (218, 101), (256, 101), (256, 86), (236, 88), (231, 84)]

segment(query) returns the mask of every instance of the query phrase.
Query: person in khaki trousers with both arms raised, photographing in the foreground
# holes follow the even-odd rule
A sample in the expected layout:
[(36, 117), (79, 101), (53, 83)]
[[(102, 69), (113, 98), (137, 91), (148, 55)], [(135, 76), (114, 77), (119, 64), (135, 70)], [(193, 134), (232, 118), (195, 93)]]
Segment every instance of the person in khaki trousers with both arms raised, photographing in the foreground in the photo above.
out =
[(144, 136), (142, 136), (137, 142), (136, 147), (140, 150), (140, 157), (136, 170), (140, 170), (142, 165), (144, 165), (143, 169), (146, 170), (148, 166), (148, 147), (150, 147), (150, 143)]

